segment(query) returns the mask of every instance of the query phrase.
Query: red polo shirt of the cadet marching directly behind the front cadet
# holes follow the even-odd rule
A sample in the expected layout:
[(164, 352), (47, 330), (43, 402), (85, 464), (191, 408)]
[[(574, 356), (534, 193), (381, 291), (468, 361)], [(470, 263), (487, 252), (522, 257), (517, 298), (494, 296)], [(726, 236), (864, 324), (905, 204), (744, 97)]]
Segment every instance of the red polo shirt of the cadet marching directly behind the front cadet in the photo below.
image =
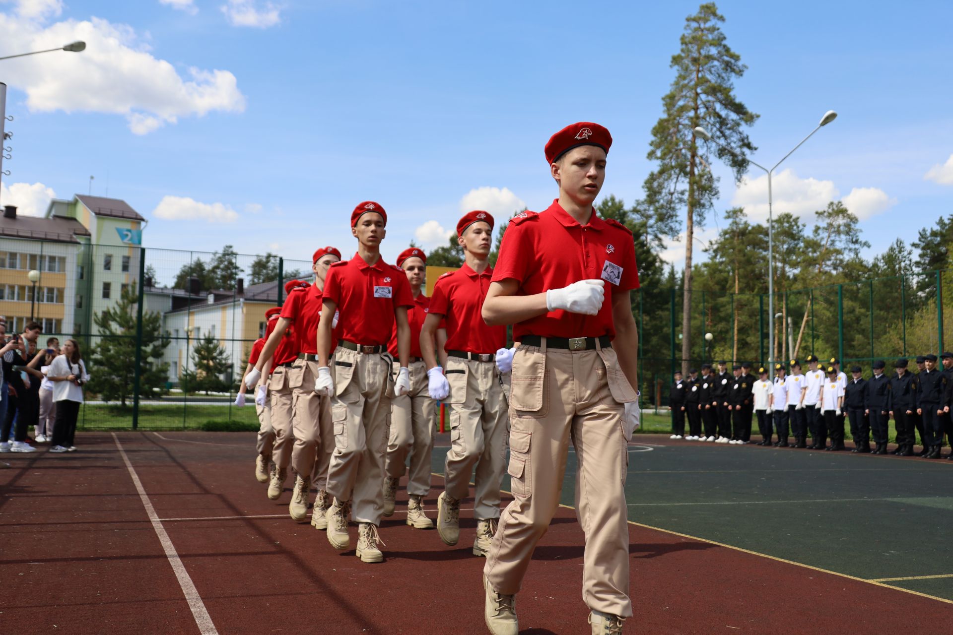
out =
[(447, 350), (495, 353), (506, 346), (506, 327), (488, 327), (480, 314), (493, 275), (492, 267), (476, 273), (464, 263), (437, 279), (430, 311), (446, 318)]

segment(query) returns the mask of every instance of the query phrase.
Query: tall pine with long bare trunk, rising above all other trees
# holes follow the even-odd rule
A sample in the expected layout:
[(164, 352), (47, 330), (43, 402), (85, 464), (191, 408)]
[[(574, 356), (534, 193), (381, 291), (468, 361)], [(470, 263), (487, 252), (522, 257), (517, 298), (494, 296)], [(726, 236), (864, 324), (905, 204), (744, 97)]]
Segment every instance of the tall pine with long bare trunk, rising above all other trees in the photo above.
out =
[[(656, 226), (673, 238), (680, 230), (679, 210), (685, 209), (685, 272), (681, 316), (682, 371), (688, 369), (691, 350), (692, 250), (695, 226), (704, 224), (705, 212), (719, 196), (718, 179), (711, 171), (711, 153), (726, 163), (740, 181), (747, 169), (745, 153), (753, 151), (744, 127), (758, 115), (734, 94), (733, 82), (745, 67), (740, 55), (725, 43), (720, 23), (724, 17), (714, 3), (702, 4), (685, 19), (679, 52), (672, 56), (676, 77), (662, 97), (663, 114), (652, 129), (648, 158), (658, 162), (645, 179), (645, 205), (656, 217)], [(707, 129), (720, 144), (699, 144), (693, 133)]]

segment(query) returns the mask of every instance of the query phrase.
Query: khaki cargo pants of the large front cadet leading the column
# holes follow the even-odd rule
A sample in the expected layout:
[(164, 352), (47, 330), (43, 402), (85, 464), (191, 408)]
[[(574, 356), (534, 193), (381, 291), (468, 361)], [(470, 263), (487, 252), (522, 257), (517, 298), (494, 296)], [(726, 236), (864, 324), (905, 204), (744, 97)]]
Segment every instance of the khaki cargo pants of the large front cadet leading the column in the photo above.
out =
[(570, 439), (576, 448), (576, 509), (585, 533), (582, 599), (630, 617), (628, 445), (623, 402), (636, 392), (612, 348), (517, 348), (510, 404), (514, 501), (503, 510), (484, 573), (500, 593), (519, 591), (537, 542), (556, 512)]

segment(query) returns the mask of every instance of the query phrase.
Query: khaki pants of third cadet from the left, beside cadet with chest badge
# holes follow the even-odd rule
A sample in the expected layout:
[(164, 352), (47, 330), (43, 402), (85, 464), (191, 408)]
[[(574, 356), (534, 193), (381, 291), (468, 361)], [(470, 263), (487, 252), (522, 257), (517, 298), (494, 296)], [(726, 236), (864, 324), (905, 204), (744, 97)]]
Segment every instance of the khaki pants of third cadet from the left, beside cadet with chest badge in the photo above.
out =
[(317, 362), (294, 360), (288, 372), (292, 387), (292, 429), (294, 449), (292, 467), (301, 476), (311, 477), (318, 489), (328, 481), (328, 466), (335, 448), (335, 430), (331, 424), (331, 399), (314, 392)]

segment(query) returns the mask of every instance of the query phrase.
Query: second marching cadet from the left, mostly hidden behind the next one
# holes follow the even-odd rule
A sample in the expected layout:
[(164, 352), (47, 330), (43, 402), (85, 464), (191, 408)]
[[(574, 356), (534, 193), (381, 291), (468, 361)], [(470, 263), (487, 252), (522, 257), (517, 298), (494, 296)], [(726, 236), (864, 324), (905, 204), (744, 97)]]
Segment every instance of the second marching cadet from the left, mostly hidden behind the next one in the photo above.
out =
[[(289, 295), (295, 288), (309, 286), (301, 280), (289, 280), (285, 283), (285, 295)], [(280, 313), (278, 315), (280, 316)], [(281, 492), (284, 491), (285, 480), (288, 478), (288, 465), (292, 461), (294, 450), (294, 394), (289, 383), (289, 371), (297, 358), (297, 352), (294, 350), (294, 328), (288, 325), (279, 330), (280, 324), (279, 317), (274, 326), (270, 325), (273, 330), (265, 340), (265, 345), (258, 355), (258, 361), (251, 372), (245, 376), (245, 386), (250, 388), (258, 384), (262, 377), (268, 378), (267, 384), (262, 382), (263, 386), (258, 387), (259, 394), (255, 396), (255, 405), (261, 397), (268, 395), (274, 432), (273, 465), (268, 484), (268, 498), (273, 501), (278, 500)], [(262, 390), (262, 387), (265, 390)], [(262, 443), (260, 436), (259, 432), (259, 444)], [(265, 446), (267, 447), (267, 442)]]

